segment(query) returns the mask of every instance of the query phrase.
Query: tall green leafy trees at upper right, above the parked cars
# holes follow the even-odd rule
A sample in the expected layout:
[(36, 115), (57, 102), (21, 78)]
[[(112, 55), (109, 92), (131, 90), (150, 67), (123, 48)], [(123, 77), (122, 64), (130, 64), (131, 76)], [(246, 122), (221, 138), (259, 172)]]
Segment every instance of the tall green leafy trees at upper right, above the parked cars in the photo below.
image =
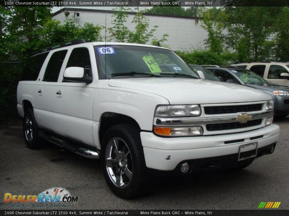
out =
[(288, 7), (213, 7), (201, 13), (212, 52), (230, 49), (237, 62), (289, 60)]

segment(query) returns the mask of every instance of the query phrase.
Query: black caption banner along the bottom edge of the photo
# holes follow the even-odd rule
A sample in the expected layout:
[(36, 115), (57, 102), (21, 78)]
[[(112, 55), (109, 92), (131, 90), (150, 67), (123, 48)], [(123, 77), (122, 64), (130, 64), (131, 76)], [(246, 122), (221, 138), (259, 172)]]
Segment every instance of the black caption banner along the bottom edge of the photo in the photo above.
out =
[(213, 215), (284, 216), (289, 210), (0, 210), (0, 215)]

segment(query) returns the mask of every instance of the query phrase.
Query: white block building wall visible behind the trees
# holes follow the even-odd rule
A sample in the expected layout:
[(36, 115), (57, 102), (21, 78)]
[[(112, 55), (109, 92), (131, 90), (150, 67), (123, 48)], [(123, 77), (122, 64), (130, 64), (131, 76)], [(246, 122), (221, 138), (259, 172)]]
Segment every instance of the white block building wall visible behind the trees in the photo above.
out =
[[(105, 14), (107, 15), (107, 29), (113, 27), (112, 13), (105, 12), (87, 12), (69, 11), (69, 18), (74, 17), (74, 12), (79, 13), (79, 25), (83, 26), (85, 22), (93, 23), (94, 25), (105, 25)], [(135, 24), (132, 23), (134, 15), (129, 14), (126, 22), (126, 26), (129, 30), (133, 30)], [(174, 18), (174, 17), (162, 17), (162, 16), (146, 16), (150, 20), (150, 29), (154, 26), (158, 26), (154, 32), (154, 37), (160, 39), (164, 34), (168, 34), (167, 41), (164, 44), (168, 45), (173, 50), (180, 49), (204, 49), (204, 40), (207, 39), (207, 32), (201, 27), (201, 20), (195, 21), (195, 19), (188, 18)], [(59, 20), (61, 24), (64, 24), (66, 17), (64, 12), (58, 13), (54, 16), (54, 19)], [(101, 36), (104, 37), (105, 29), (102, 29)], [(109, 32), (107, 31), (107, 39), (109, 38)]]

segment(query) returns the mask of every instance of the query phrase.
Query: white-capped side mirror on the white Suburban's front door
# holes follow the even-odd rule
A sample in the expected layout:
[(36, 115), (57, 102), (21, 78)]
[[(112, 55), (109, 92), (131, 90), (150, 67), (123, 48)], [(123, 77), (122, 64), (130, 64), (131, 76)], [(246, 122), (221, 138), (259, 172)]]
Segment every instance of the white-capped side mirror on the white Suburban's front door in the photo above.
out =
[(62, 82), (92, 83), (92, 77), (85, 75), (83, 67), (67, 67), (64, 70)]

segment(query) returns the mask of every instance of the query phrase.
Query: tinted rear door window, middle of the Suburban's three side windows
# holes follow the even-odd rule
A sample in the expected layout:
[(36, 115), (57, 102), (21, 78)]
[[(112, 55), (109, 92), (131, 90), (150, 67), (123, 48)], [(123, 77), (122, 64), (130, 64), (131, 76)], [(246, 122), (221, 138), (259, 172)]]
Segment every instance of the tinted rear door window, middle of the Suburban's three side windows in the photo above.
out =
[(67, 49), (54, 52), (51, 55), (45, 70), (43, 81), (57, 82), (66, 53)]

